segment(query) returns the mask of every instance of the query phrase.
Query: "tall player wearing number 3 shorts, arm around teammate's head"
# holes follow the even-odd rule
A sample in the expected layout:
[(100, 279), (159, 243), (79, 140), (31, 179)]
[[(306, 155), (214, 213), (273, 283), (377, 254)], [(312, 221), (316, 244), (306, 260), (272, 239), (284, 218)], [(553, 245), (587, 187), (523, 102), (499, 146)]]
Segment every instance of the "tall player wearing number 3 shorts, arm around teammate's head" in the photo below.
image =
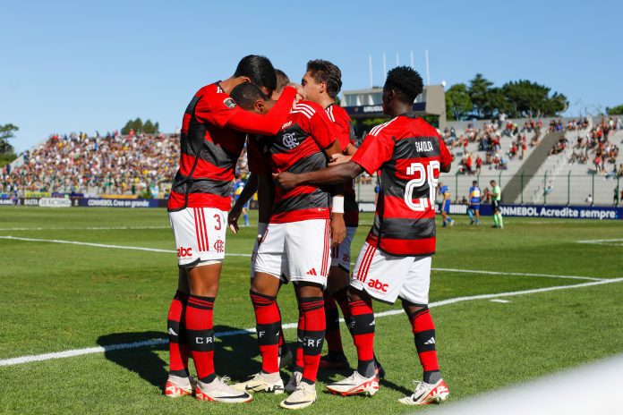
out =
[(214, 371), (212, 309), (225, 256), (225, 215), (245, 134), (277, 133), (297, 91), (286, 88), (268, 114), (253, 114), (236, 106), (228, 95), (235, 86), (251, 82), (266, 93), (275, 89), (276, 74), (269, 59), (245, 56), (232, 77), (201, 88), (183, 115), (180, 167), (168, 201), (180, 267), (178, 292), (167, 318), (171, 368), (166, 395), (170, 397), (192, 393), (190, 353), (199, 377), (197, 398), (252, 399), (227, 386)]

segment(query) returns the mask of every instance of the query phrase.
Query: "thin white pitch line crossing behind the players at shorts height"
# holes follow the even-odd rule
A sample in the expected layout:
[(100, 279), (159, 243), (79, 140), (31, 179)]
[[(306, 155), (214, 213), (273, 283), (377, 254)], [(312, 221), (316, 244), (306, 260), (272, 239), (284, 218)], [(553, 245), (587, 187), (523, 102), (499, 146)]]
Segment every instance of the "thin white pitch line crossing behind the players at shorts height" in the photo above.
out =
[[(124, 246), (124, 245), (108, 245), (104, 243), (92, 243), (92, 242), (81, 242), (81, 241), (63, 241), (57, 239), (38, 239), (38, 238), (21, 238), (18, 236), (0, 236), (0, 239), (13, 240), (13, 241), (30, 241), (30, 242), (48, 242), (48, 243), (65, 243), (70, 245), (83, 245), (83, 246), (92, 246), (96, 248), (111, 248), (118, 250), (146, 250), (149, 252), (164, 252), (164, 253), (176, 253), (175, 250), (160, 250), (158, 248), (144, 248), (144, 247), (133, 247), (133, 246)], [(227, 253), (228, 257), (251, 257), (251, 254), (239, 254), (239, 253)], [(351, 262), (351, 265), (354, 265)], [(576, 280), (587, 280), (587, 281), (602, 281), (603, 278), (595, 278), (593, 276), (579, 276), (579, 275), (551, 275), (551, 274), (529, 274), (529, 273), (512, 273), (512, 272), (502, 272), (502, 271), (483, 271), (478, 269), (458, 269), (458, 268), (431, 268), (433, 271), (446, 271), (446, 272), (457, 272), (457, 273), (466, 273), (466, 274), (486, 274), (486, 275), (516, 275), (516, 276), (539, 276), (546, 278), (565, 278), (565, 279), (576, 279)]]

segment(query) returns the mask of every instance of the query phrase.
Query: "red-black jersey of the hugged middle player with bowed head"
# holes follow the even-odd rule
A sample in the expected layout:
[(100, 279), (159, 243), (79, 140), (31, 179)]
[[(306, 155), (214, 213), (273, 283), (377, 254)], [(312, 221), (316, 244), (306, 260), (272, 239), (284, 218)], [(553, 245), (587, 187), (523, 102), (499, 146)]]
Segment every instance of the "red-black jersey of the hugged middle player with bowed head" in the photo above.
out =
[[(333, 144), (335, 132), (321, 106), (301, 101), (294, 106), (276, 136), (257, 140), (257, 153), (250, 150), (250, 156), (255, 153), (254, 157), (261, 155), (268, 160), (272, 173), (313, 172), (327, 166), (323, 149)], [(291, 191), (276, 186), (270, 223), (328, 219), (329, 206), (329, 191), (318, 186), (297, 186)]]

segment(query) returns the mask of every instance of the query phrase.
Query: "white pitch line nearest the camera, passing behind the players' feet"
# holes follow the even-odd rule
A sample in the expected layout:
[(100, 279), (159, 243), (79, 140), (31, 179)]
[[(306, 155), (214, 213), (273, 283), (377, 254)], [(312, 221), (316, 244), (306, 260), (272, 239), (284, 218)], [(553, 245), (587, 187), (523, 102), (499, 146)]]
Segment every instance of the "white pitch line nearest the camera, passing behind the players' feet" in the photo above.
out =
[[(481, 294), (481, 295), (473, 295), (469, 297), (457, 297), (448, 300), (435, 301), (429, 304), (429, 307), (440, 307), (446, 306), (449, 304), (456, 304), (457, 302), (464, 301), (474, 301), (474, 300), (490, 300), (490, 299), (499, 299), (499, 297), (511, 297), (516, 295), (526, 295), (526, 294), (534, 294), (539, 292), (552, 292), (559, 290), (570, 290), (574, 288), (585, 288), (592, 287), (594, 285), (602, 285), (602, 284), (613, 284), (623, 282), (623, 278), (614, 278), (610, 280), (602, 280), (602, 281), (594, 281), (591, 283), (583, 283), (583, 284), (573, 284), (573, 285), (558, 285), (555, 287), (547, 287), (547, 288), (536, 288), (533, 290), (523, 290), (523, 291), (515, 291), (515, 292), (498, 292), (494, 294)], [(388, 316), (395, 316), (397, 314), (402, 314), (405, 311), (402, 309), (390, 309), (388, 311), (383, 311), (380, 313), (376, 313), (375, 318), (384, 318)], [(340, 318), (340, 321), (344, 322), (343, 318)], [(288, 323), (283, 325), (285, 330), (295, 328), (297, 323)], [(255, 328), (246, 328), (243, 330), (232, 330), (228, 332), (220, 332), (217, 333), (217, 337), (227, 337), (231, 335), (247, 335), (255, 333)], [(89, 347), (86, 349), (73, 349), (68, 351), (56, 351), (53, 353), (44, 353), (44, 354), (34, 354), (28, 356), (21, 356), (17, 358), (4, 359), (0, 360), (0, 366), (14, 366), (20, 365), (23, 363), (30, 363), (32, 361), (43, 361), (43, 360), (53, 360), (53, 359), (64, 359), (70, 358), (74, 356), (81, 356), (84, 354), (92, 354), (92, 353), (102, 353), (106, 351), (116, 351), (116, 350), (124, 350), (124, 349), (135, 349), (137, 347), (146, 347), (146, 346), (154, 346), (158, 344), (168, 343), (167, 339), (153, 339), (153, 340), (145, 340), (142, 342), (135, 343), (117, 343), (110, 344), (107, 346), (98, 346), (98, 347)]]

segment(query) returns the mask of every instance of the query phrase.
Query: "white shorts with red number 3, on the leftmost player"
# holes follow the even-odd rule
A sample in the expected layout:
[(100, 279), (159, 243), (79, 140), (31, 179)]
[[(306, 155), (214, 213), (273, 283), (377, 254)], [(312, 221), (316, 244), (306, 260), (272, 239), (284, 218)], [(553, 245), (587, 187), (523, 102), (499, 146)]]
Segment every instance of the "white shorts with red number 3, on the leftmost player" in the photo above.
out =
[(225, 258), (226, 212), (213, 207), (186, 207), (169, 212), (180, 267)]

